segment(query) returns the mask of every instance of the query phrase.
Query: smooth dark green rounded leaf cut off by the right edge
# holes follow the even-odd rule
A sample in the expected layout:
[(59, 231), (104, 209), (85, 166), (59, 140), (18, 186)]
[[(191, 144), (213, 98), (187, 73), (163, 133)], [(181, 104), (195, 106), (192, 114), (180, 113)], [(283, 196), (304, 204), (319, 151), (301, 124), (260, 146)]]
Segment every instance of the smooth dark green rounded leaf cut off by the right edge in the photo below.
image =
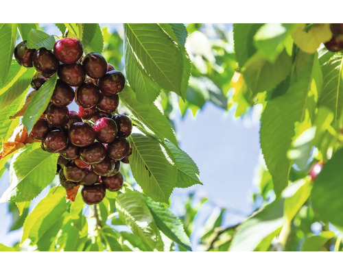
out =
[(343, 149), (336, 151), (314, 181), (311, 204), (314, 213), (324, 222), (343, 227)]

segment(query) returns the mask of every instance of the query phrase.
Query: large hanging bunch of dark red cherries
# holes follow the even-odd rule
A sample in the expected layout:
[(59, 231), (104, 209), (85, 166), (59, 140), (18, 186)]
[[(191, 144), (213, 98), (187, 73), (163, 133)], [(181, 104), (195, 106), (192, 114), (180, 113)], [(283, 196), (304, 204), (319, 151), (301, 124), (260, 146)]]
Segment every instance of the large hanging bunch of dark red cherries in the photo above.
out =
[[(45, 151), (59, 153), (60, 184), (66, 190), (82, 184), (82, 198), (91, 205), (102, 201), (106, 190), (117, 191), (123, 186), (119, 168), (120, 161), (128, 163), (132, 153), (126, 139), (132, 122), (123, 114), (113, 116), (118, 93), (125, 85), (123, 74), (101, 54), (88, 53), (82, 58), (83, 53), (77, 38), (58, 40), (54, 52), (44, 47), (27, 49), (27, 41), (14, 49), (21, 66), (35, 67), (31, 83), (35, 90), (58, 73), (50, 103), (30, 136), (41, 140)], [(74, 98), (78, 112), (67, 107)]]

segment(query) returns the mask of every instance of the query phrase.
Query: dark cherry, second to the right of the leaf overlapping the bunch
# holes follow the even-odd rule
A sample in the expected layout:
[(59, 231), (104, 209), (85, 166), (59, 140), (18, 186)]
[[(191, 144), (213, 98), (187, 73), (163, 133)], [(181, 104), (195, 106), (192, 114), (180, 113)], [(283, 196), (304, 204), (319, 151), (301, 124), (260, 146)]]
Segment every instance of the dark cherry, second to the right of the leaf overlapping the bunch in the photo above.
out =
[(91, 82), (81, 84), (75, 92), (75, 102), (82, 108), (93, 108), (99, 98), (99, 88)]

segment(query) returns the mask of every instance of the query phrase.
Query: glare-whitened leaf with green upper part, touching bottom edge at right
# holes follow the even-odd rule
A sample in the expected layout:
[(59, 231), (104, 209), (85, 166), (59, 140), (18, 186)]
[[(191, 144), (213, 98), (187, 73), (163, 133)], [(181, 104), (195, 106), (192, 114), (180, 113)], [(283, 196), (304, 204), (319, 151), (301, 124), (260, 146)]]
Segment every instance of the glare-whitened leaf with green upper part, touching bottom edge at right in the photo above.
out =
[(265, 238), (270, 245), (285, 223), (283, 202), (283, 199), (276, 199), (241, 223), (233, 235), (229, 251), (255, 251)]

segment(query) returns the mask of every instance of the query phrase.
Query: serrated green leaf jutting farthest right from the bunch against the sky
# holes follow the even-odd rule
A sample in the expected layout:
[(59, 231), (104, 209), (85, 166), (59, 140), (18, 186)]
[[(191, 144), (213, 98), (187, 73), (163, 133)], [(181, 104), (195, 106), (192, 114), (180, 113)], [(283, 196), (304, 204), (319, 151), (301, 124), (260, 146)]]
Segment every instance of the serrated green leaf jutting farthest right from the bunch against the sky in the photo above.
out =
[(185, 151), (179, 149), (171, 142), (165, 141), (167, 153), (174, 161), (178, 169), (178, 179), (176, 179), (177, 188), (188, 188), (194, 184), (202, 184), (199, 178), (199, 169), (193, 159)]

